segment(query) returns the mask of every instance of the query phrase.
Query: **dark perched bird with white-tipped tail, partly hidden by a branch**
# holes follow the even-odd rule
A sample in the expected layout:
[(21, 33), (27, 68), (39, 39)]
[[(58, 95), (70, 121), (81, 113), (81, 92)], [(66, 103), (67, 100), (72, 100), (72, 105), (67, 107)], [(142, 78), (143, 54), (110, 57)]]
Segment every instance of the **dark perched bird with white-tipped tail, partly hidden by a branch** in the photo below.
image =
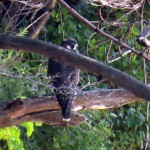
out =
[[(61, 46), (79, 53), (77, 41), (72, 38), (64, 39)], [(72, 100), (76, 97), (79, 74), (80, 70), (75, 67), (48, 60), (48, 77), (51, 78), (55, 87), (54, 93), (62, 109), (63, 121), (66, 122), (71, 118)]]

